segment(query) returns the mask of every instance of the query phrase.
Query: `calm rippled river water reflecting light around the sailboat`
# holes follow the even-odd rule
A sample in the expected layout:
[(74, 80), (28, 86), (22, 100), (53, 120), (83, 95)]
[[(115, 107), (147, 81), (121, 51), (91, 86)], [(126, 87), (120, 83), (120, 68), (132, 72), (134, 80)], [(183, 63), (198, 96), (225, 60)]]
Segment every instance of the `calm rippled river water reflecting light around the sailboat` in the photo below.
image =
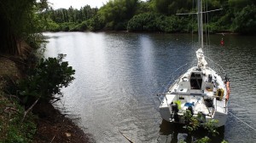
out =
[[(45, 56), (67, 54), (65, 60), (76, 70), (76, 79), (55, 106), (96, 142), (129, 142), (122, 134), (137, 143), (186, 140), (186, 134), (162, 122), (156, 94), (177, 67), (196, 59), (195, 35), (44, 35), (49, 37)], [(219, 44), (222, 37), (224, 46)], [(211, 35), (209, 42), (205, 54), (228, 72), (231, 89), (228, 121), (213, 142), (256, 142), (256, 37)]]

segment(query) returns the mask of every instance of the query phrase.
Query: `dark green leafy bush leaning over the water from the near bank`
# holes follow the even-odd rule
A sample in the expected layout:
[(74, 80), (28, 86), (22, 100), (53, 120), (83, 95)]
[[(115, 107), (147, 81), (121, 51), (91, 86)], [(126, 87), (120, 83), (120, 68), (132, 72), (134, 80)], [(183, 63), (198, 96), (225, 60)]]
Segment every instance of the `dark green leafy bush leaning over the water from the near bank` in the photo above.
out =
[(41, 59), (29, 76), (20, 80), (18, 89), (24, 104), (31, 105), (36, 99), (48, 102), (60, 99), (61, 88), (73, 81), (75, 73), (67, 61), (62, 61), (64, 57), (59, 54), (57, 58)]

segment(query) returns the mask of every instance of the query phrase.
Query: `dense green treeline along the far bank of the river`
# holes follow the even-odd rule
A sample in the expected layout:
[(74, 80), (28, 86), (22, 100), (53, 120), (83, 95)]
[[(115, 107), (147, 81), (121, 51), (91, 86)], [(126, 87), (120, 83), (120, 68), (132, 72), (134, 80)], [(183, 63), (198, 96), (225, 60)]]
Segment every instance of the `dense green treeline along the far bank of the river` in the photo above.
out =
[[(231, 31), (254, 34), (255, 0), (203, 0), (203, 10), (222, 9), (205, 14), (205, 26), (212, 33)], [(197, 30), (196, 0), (109, 0), (100, 9), (46, 9), (44, 31), (160, 31)]]

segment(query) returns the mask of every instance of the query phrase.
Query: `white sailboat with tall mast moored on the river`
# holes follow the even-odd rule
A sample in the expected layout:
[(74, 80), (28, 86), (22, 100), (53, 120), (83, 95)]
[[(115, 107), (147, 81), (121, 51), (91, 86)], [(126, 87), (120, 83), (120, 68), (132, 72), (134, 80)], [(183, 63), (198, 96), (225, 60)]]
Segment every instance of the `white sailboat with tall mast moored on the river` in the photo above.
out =
[(230, 97), (229, 78), (223, 78), (207, 63), (203, 53), (201, 0), (197, 0), (199, 49), (196, 51), (197, 66), (192, 66), (178, 77), (160, 97), (160, 116), (168, 122), (186, 123), (187, 111), (191, 116), (201, 115), (201, 123), (215, 119), (217, 127), (224, 126), (228, 115)]

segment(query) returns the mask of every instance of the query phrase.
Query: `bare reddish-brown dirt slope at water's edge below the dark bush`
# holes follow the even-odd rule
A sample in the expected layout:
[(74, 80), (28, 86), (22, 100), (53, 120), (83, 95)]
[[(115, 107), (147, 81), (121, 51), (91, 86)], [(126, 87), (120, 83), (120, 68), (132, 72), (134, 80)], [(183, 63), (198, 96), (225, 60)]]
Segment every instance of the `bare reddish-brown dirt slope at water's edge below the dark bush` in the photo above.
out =
[(90, 134), (84, 134), (82, 129), (49, 103), (38, 103), (33, 112), (39, 117), (34, 142), (95, 142)]

